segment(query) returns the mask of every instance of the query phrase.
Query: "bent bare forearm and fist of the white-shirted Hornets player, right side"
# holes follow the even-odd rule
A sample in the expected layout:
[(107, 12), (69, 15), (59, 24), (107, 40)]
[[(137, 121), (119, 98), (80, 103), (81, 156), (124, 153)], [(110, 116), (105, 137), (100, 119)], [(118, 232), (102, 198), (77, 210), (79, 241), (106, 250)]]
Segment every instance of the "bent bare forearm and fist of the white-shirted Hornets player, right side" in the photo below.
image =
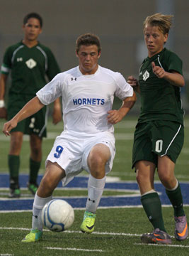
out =
[(132, 107), (134, 106), (134, 103), (137, 100), (136, 93), (133, 92), (132, 97), (126, 97), (125, 100), (122, 101), (122, 107), (120, 107), (120, 110), (110, 110), (108, 111), (108, 123), (109, 124), (117, 124), (120, 122), (125, 115), (130, 112)]

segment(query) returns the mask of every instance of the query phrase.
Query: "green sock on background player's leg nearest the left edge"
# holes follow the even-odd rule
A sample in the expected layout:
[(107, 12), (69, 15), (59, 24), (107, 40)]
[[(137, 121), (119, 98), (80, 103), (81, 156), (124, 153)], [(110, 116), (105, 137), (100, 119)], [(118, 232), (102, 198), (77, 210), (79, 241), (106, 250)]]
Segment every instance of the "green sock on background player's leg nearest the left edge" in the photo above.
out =
[(20, 168), (20, 156), (8, 155), (8, 169), (10, 174), (10, 187), (17, 188)]

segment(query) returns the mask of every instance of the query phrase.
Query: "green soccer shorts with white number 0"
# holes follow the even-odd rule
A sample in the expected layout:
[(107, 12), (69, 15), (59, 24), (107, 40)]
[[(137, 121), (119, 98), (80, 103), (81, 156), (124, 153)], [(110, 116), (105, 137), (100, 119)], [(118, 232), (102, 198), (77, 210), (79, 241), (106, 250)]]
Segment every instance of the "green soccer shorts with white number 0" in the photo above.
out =
[(168, 156), (176, 163), (184, 142), (184, 128), (171, 121), (151, 121), (137, 124), (132, 149), (132, 168), (137, 161), (156, 164), (158, 156)]

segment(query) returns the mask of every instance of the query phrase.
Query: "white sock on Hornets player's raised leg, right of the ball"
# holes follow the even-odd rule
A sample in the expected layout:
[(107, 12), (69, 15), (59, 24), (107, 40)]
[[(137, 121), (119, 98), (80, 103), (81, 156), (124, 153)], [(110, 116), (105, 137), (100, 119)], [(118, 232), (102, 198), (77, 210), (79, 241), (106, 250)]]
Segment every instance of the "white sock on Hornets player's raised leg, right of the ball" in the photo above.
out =
[(96, 213), (96, 209), (103, 194), (105, 179), (106, 176), (98, 179), (91, 176), (91, 174), (88, 178), (88, 198), (86, 202), (86, 210), (91, 213)]

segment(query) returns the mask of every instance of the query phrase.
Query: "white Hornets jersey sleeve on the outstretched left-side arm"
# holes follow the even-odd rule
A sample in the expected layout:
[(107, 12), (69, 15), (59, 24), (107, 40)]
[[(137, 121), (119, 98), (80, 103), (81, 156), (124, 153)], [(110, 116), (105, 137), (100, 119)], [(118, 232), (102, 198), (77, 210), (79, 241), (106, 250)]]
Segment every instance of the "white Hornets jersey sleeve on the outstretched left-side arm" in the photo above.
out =
[(36, 95), (43, 105), (49, 105), (58, 97), (62, 96), (62, 81), (60, 80), (59, 75), (56, 75), (52, 81), (42, 87)]

